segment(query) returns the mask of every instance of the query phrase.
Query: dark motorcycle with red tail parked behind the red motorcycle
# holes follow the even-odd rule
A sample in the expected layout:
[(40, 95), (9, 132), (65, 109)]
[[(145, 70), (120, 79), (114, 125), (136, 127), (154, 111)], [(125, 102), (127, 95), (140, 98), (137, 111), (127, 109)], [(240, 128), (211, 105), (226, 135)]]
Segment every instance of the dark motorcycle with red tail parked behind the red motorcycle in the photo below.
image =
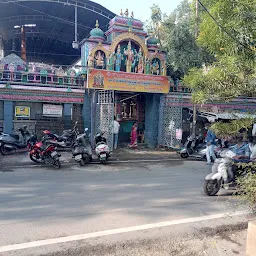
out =
[(59, 148), (72, 148), (75, 144), (76, 137), (79, 135), (77, 124), (78, 122), (75, 123), (73, 129), (64, 130), (60, 136), (50, 132), (49, 130), (44, 130), (43, 140), (48, 139), (57, 141)]

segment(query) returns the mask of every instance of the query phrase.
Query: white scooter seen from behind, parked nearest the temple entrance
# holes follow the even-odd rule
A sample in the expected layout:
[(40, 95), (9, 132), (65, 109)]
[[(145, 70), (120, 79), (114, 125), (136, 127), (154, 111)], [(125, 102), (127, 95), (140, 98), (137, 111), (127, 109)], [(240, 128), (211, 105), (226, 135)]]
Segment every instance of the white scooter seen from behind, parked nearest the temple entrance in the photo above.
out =
[(100, 162), (102, 164), (107, 164), (107, 161), (110, 157), (110, 150), (107, 145), (107, 139), (103, 137), (103, 135), (104, 135), (104, 132), (100, 132), (95, 136), (95, 144), (96, 144), (95, 152)]

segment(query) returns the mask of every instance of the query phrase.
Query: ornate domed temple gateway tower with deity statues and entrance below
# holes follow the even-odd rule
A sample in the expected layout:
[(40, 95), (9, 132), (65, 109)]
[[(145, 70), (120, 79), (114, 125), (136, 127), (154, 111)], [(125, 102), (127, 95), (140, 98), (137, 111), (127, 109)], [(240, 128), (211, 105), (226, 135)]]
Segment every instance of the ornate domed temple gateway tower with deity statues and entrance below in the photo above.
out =
[[(161, 95), (169, 92), (166, 53), (159, 40), (148, 36), (143, 23), (129, 11), (114, 17), (104, 33), (96, 21), (89, 38), (81, 42), (81, 64), (87, 73), (85, 123), (92, 132), (103, 130), (112, 140), (116, 116), (120, 143), (127, 144), (138, 123), (139, 142), (156, 146)], [(86, 103), (87, 102), (87, 103)]]

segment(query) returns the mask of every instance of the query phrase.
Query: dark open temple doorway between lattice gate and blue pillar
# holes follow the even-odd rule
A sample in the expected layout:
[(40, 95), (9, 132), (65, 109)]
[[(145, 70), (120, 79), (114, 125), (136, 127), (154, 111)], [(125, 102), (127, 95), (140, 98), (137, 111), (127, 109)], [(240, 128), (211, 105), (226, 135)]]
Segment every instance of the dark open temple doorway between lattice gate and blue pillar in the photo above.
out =
[(130, 133), (134, 122), (138, 123), (138, 143), (144, 143), (145, 104), (144, 93), (116, 93), (115, 116), (120, 123), (119, 144), (121, 146), (126, 146), (130, 142)]

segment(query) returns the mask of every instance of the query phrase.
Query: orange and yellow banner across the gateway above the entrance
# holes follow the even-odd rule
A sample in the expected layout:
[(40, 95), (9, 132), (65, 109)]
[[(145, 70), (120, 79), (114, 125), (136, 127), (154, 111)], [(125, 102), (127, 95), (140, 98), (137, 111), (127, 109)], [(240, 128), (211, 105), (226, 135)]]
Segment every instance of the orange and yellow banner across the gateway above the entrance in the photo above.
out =
[(127, 92), (168, 93), (167, 76), (89, 69), (87, 88)]

